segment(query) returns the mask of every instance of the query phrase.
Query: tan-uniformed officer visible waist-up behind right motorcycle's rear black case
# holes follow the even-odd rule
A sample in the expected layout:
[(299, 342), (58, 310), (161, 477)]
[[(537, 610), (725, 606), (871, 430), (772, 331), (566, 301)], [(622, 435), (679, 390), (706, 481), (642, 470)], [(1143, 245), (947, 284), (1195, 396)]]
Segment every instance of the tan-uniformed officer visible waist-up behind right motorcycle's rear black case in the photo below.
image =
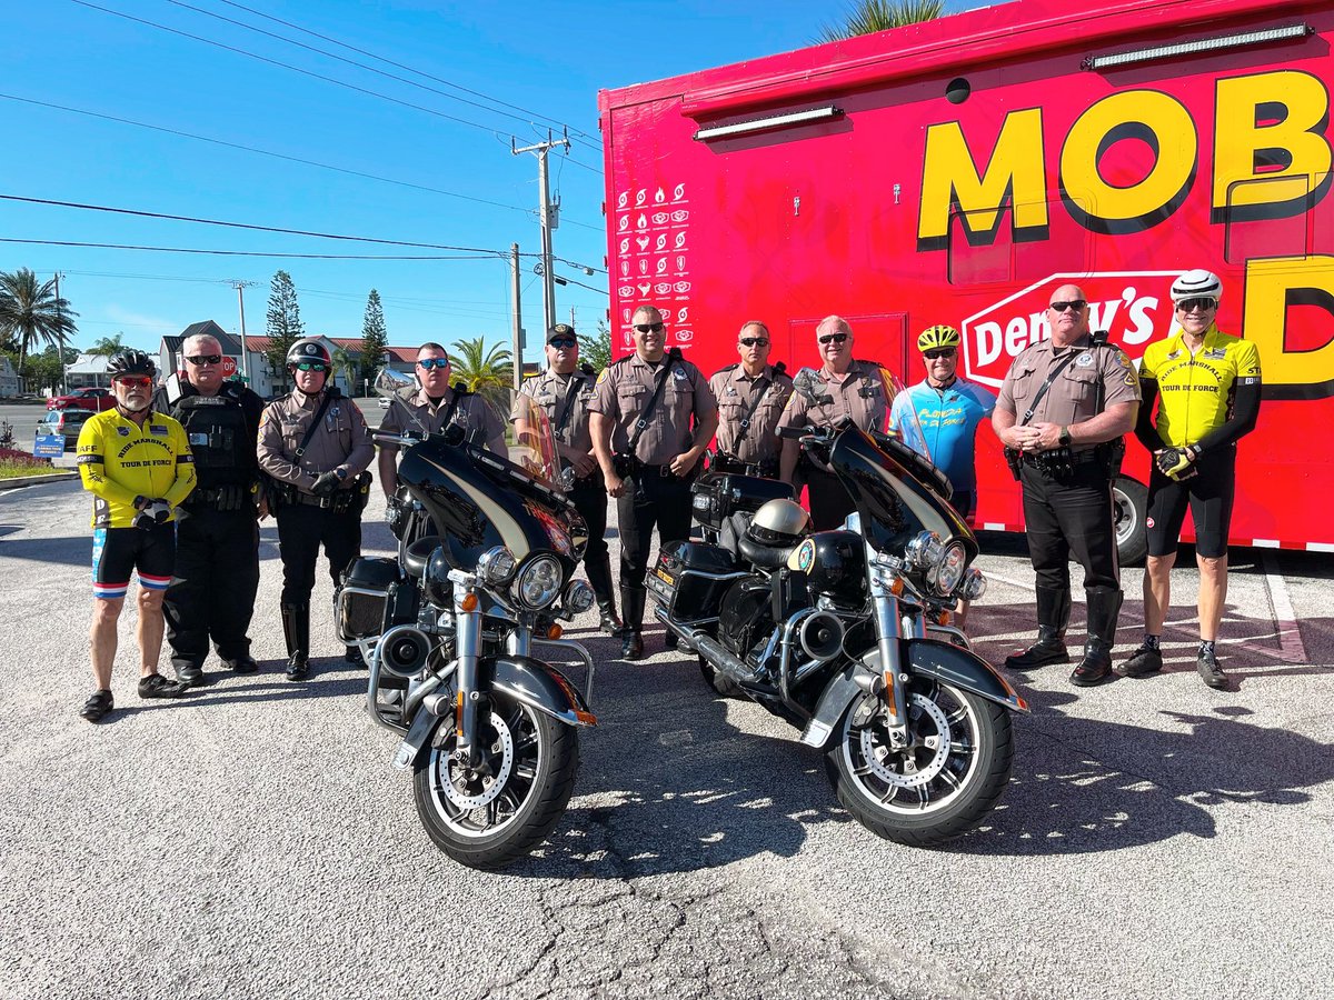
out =
[(714, 372), (708, 388), (718, 399), (718, 451), (710, 472), (740, 472), (778, 479), (779, 417), (792, 395), (792, 380), (782, 365), (768, 363), (772, 339), (758, 320), (736, 335), (740, 361)]

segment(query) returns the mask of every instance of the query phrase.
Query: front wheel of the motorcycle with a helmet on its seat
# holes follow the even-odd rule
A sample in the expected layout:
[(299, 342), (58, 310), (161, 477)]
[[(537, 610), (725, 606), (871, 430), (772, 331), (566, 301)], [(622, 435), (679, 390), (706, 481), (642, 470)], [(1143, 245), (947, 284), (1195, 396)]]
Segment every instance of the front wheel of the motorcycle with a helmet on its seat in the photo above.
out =
[(899, 844), (932, 847), (984, 816), (1010, 780), (1014, 732), (1000, 705), (950, 684), (912, 681), (908, 745), (891, 747), (879, 696), (843, 716), (828, 753), (838, 799), (858, 821)]

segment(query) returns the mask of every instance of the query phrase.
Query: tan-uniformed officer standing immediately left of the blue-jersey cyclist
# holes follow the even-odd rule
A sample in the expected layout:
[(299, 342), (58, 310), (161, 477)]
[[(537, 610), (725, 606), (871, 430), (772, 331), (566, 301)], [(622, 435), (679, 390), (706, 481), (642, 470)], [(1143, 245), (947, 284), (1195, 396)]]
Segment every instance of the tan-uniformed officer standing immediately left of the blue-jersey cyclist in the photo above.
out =
[[(842, 316), (826, 316), (815, 328), (815, 343), (824, 361), (818, 372), (823, 397), (812, 404), (802, 393), (792, 393), (778, 425), (832, 427), (843, 417), (851, 417), (863, 431), (883, 429), (890, 413), (890, 391), (879, 364), (852, 359), (852, 328), (847, 320)], [(798, 493), (802, 481), (806, 483), (811, 523), (816, 531), (836, 528), (852, 513), (852, 497), (838, 481), (838, 476), (815, 465), (792, 439), (783, 439), (779, 477), (792, 484)]]

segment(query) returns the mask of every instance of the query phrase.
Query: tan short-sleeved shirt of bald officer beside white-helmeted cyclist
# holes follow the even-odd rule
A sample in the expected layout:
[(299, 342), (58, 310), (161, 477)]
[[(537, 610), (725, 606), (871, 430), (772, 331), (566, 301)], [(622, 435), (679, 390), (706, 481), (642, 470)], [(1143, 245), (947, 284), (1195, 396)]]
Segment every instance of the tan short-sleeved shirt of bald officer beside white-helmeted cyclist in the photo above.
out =
[[(1038, 401), (1033, 416), (1025, 421), (1025, 413), (1047, 381), (1051, 369), (1071, 353), (1074, 359), (1061, 371), (1051, 388)], [(1139, 379), (1126, 352), (1115, 345), (1094, 347), (1093, 339), (1086, 333), (1067, 348), (1057, 348), (1051, 340), (1038, 341), (1014, 359), (1010, 372), (1000, 383), (996, 407), (1014, 413), (1017, 424), (1069, 425), (1095, 417), (1115, 403), (1138, 401)], [(1082, 445), (1075, 451), (1094, 447)]]

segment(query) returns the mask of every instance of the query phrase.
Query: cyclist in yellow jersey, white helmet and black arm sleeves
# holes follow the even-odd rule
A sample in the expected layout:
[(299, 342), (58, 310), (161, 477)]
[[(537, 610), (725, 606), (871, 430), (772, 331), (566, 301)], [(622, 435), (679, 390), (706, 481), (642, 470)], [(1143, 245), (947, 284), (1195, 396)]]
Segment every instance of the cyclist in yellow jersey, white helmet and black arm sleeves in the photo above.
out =
[[(1195, 669), (1227, 687), (1214, 643), (1227, 599), (1227, 531), (1237, 481), (1237, 441), (1255, 428), (1261, 372), (1255, 344), (1218, 329), (1223, 288), (1209, 271), (1187, 271), (1171, 287), (1181, 329), (1150, 344), (1139, 368), (1143, 407), (1135, 436), (1154, 456), (1149, 479), (1145, 641), (1117, 668), (1123, 677), (1162, 669), (1162, 629), (1171, 604), (1171, 568), (1190, 507), (1199, 564), (1199, 652)], [(1161, 397), (1154, 417), (1154, 397)]]

